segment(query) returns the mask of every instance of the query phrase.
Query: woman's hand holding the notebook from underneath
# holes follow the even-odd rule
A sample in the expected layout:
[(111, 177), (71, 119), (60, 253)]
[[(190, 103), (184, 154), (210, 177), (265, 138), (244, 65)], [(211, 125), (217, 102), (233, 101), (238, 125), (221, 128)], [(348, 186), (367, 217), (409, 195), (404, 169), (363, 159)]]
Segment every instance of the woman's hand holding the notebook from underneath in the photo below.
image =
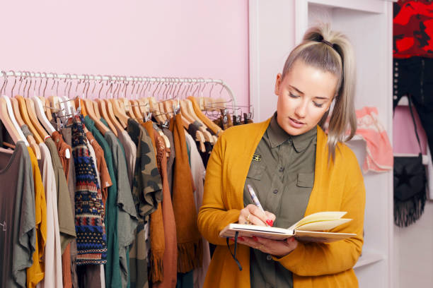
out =
[(285, 240), (271, 240), (262, 237), (238, 237), (238, 244), (250, 246), (263, 253), (276, 257), (284, 257), (298, 246), (298, 241), (294, 237)]

